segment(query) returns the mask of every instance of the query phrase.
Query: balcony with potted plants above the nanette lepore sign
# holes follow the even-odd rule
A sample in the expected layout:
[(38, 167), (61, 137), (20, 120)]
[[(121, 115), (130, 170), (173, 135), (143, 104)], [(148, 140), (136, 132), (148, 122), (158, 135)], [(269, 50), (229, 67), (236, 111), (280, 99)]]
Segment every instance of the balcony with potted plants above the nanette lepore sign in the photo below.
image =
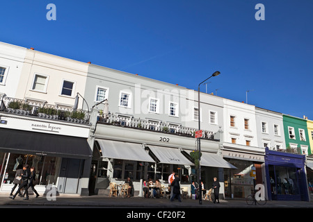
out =
[(89, 112), (86, 110), (74, 110), (62, 105), (51, 105), (45, 102), (31, 101), (29, 99), (15, 99), (2, 96), (0, 112), (17, 114), (40, 119), (68, 121), (73, 123), (89, 123)]

